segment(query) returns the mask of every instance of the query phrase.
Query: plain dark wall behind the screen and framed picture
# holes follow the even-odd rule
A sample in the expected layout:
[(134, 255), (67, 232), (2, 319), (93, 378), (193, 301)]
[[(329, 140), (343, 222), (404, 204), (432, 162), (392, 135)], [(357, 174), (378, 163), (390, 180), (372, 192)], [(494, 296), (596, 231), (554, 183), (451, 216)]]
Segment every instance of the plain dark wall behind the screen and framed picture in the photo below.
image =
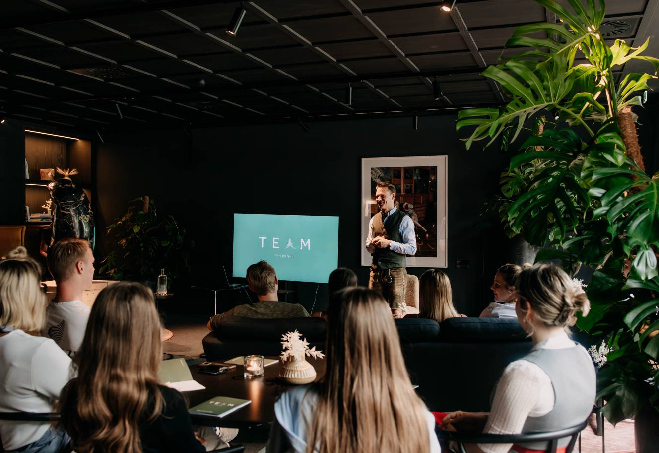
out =
[[(497, 190), (507, 156), (496, 147), (467, 152), (453, 115), (421, 117), (419, 127), (413, 130), (407, 117), (310, 123), (308, 133), (290, 124), (194, 129), (192, 138), (182, 129), (104, 136), (97, 161), (99, 226), (123, 213), (127, 200), (150, 195), (160, 210), (186, 224), (196, 239), (197, 260), (223, 264), (229, 272), (233, 212), (339, 216), (339, 265), (353, 268), (366, 284), (367, 268), (360, 266), (361, 159), (446, 155), (447, 273), (459, 311), (477, 316), (490, 302), (483, 291), (494, 268), (505, 262), (488, 255), (500, 256), (505, 238), (476, 223), (484, 200)], [(107, 244), (100, 246), (107, 250)], [(455, 268), (456, 260), (468, 260), (470, 267)], [(424, 269), (408, 270), (420, 275)], [(316, 284), (289, 287), (310, 307)], [(324, 285), (317, 297), (316, 309), (324, 307)]]

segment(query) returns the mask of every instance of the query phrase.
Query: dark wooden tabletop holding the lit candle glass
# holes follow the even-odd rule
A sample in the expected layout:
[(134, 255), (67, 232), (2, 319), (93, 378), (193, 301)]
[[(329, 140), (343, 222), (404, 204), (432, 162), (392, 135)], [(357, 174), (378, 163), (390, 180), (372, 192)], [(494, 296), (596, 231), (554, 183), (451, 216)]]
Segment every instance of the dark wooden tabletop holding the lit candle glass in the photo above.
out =
[[(268, 357), (278, 359), (279, 357)], [(325, 360), (307, 357), (307, 361), (316, 369), (316, 380), (325, 374)], [(281, 362), (264, 367), (264, 375), (258, 378), (243, 378), (243, 365), (221, 375), (205, 375), (199, 372), (200, 365), (192, 365), (192, 378), (206, 387), (206, 390), (185, 392), (190, 402), (189, 407), (196, 406), (215, 396), (229, 396), (250, 400), (251, 403), (244, 408), (230, 413), (226, 417), (218, 418), (208, 415), (190, 415), (192, 423), (206, 426), (223, 426), (229, 428), (243, 428), (270, 424), (275, 419), (275, 401), (277, 397), (293, 388), (285, 384), (277, 375), (281, 369)]]

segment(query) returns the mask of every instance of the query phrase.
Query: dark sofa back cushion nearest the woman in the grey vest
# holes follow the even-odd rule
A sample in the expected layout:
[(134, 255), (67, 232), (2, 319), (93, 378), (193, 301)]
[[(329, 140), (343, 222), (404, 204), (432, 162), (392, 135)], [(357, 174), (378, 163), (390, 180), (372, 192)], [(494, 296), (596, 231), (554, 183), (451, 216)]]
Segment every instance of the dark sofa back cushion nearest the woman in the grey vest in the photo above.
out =
[(442, 342), (520, 342), (530, 341), (517, 319), (448, 318), (440, 325)]

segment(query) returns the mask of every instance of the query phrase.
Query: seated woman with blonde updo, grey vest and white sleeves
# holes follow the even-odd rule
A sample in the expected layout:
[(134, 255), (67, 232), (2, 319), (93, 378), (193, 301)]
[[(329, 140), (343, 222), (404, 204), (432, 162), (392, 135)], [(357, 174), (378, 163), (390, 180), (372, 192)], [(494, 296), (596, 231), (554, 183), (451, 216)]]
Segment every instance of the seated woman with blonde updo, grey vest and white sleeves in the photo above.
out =
[[(576, 313), (588, 313), (588, 298), (560, 268), (527, 266), (515, 284), (519, 293), (515, 308), (519, 323), (532, 339), (531, 352), (505, 368), (490, 413), (451, 412), (442, 420), (443, 429), (492, 434), (556, 431), (579, 425), (592, 411), (594, 366), (587, 351), (567, 336)], [(558, 446), (564, 447), (567, 441), (562, 438)], [(546, 442), (469, 444), (467, 451), (524, 453), (544, 448)]]

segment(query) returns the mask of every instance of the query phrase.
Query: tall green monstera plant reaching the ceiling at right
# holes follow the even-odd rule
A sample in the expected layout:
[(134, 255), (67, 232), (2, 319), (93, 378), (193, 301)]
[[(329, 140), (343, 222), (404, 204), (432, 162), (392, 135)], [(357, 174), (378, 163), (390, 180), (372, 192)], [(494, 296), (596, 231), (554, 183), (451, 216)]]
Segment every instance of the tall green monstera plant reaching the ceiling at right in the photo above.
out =
[[(461, 111), (457, 129), (473, 128), (468, 149), (497, 138), (511, 148), (523, 129), (534, 129), (502, 174), (501, 219), (511, 234), (544, 247), (537, 260), (559, 258), (572, 274), (594, 268), (592, 308), (577, 325), (608, 351), (598, 373), (604, 415), (612, 423), (641, 409), (656, 415), (659, 173), (645, 171), (631, 106), (641, 106), (659, 59), (642, 55), (647, 42), (604, 41), (603, 0), (536, 1), (560, 22), (515, 30), (506, 47), (519, 53), (482, 73), (509, 102)], [(631, 59), (646, 61), (652, 73), (616, 80)]]

